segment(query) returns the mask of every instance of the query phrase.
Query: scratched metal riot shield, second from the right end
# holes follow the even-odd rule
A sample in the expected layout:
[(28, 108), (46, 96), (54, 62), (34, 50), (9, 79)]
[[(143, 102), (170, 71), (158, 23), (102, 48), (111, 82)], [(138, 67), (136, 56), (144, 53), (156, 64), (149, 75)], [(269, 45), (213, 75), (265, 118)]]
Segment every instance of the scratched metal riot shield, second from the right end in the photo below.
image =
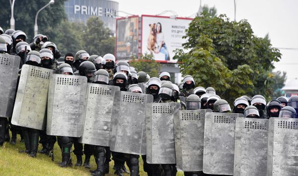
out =
[(234, 176), (267, 175), (268, 126), (268, 119), (236, 119)]

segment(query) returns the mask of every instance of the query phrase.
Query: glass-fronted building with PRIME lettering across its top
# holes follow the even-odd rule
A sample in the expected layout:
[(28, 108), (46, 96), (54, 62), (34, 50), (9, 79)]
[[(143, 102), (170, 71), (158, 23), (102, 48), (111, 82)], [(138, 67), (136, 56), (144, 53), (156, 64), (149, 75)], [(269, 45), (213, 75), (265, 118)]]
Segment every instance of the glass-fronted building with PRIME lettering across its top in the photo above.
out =
[(69, 21), (86, 24), (89, 17), (98, 16), (112, 34), (115, 34), (118, 2), (112, 0), (67, 0), (64, 5)]

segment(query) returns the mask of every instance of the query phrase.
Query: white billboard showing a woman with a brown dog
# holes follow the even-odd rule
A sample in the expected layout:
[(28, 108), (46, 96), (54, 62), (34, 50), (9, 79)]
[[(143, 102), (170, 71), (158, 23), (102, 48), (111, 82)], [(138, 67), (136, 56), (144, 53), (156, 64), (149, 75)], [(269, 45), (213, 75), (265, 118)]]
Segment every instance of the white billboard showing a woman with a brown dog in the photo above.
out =
[(182, 39), (191, 18), (170, 18), (166, 16), (142, 15), (141, 52), (152, 53), (160, 62), (176, 62), (173, 50), (186, 42)]

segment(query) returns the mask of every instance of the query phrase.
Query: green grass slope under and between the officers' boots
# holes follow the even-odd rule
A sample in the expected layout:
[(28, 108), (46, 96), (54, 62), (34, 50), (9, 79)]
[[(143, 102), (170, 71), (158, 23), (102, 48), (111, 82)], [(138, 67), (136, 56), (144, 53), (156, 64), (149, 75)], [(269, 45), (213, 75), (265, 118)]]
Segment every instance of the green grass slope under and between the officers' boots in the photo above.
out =
[[(3, 146), (0, 147), (0, 175), (1, 176), (90, 176), (89, 169), (84, 167), (75, 167), (76, 157), (74, 153), (71, 153), (73, 160), (72, 168), (61, 168), (58, 166), (61, 160), (61, 150), (55, 143), (54, 147), (54, 162), (51, 158), (44, 154), (37, 154), (36, 158), (31, 158), (27, 154), (21, 154), (18, 151), (24, 150), (24, 143), (19, 142), (19, 135), (17, 138), (16, 145), (12, 145), (9, 142), (4, 142)], [(39, 145), (38, 149), (42, 147)], [(74, 149), (74, 147), (73, 147)], [(83, 156), (84, 160), (84, 156)], [(140, 156), (140, 176), (147, 176), (147, 173), (143, 170), (143, 160)], [(91, 170), (96, 169), (94, 157), (90, 159)], [(113, 170), (114, 162), (110, 162), (110, 173), (109, 176), (114, 175)], [(126, 166), (127, 170), (128, 167)], [(129, 174), (124, 174), (129, 176)], [(106, 175), (107, 176), (107, 175)], [(183, 176), (183, 172), (178, 172), (177, 176)]]

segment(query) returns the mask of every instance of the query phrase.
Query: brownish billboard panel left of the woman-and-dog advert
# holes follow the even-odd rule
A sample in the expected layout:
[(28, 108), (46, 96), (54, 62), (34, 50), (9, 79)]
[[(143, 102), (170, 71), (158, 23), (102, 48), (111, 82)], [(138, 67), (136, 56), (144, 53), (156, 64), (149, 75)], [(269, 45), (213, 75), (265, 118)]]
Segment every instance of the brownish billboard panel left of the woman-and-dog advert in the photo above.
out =
[(138, 58), (139, 51), (139, 16), (118, 18), (116, 21), (116, 58), (128, 60)]

